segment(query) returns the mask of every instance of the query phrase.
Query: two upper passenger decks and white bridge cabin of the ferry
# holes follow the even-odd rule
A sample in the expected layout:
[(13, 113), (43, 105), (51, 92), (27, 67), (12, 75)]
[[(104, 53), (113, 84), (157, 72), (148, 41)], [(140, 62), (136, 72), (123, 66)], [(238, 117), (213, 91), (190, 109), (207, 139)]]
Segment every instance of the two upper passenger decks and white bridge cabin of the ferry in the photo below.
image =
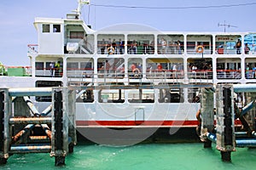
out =
[(102, 78), (187, 83), (194, 78), (240, 83), (255, 77), (255, 33), (172, 32), (127, 24), (93, 31), (76, 17), (38, 18), (34, 24), (38, 46), (29, 46), (28, 54), (35, 61), (35, 77), (53, 77), (49, 65), (58, 61), (57, 77), (73, 82)]

